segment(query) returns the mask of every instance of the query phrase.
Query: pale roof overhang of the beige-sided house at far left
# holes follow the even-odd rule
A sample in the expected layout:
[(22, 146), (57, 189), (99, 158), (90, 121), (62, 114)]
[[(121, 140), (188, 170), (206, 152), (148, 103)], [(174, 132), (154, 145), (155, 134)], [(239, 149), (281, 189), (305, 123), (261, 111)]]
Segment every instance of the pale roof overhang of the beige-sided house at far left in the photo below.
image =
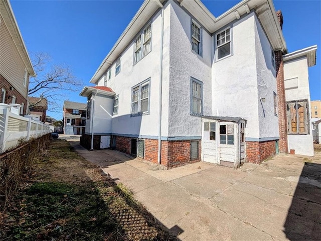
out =
[(28, 70), (30, 75), (36, 76), (9, 0), (0, 0), (0, 14), (4, 18), (4, 22), (8, 27), (10, 35), (12, 36), (19, 54), (26, 65), (26, 69)]

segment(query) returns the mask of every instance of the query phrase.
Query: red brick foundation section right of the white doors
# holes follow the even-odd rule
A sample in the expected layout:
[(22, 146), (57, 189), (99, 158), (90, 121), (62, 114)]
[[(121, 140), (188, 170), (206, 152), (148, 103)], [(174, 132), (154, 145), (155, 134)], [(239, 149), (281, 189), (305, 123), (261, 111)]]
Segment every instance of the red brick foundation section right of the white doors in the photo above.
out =
[(275, 155), (275, 141), (246, 141), (246, 161), (256, 164)]

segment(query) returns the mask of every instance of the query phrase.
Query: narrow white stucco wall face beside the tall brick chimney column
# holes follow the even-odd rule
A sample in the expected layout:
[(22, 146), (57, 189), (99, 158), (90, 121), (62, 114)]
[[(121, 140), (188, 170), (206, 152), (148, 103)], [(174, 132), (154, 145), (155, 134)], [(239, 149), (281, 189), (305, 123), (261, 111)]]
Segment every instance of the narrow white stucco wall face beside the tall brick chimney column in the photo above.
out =
[(258, 88), (259, 135), (278, 137), (277, 111), (274, 113), (274, 94), (276, 89), (276, 71), (272, 64), (271, 45), (255, 15), (255, 53)]

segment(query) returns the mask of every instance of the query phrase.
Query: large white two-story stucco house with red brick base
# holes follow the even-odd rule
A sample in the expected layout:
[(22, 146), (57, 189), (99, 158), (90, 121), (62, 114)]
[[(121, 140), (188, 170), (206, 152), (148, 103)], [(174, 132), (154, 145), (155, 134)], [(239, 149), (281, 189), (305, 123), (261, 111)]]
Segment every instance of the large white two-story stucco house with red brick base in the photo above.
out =
[(307, 72), (316, 46), (288, 53), (282, 23), (271, 0), (243, 0), (220, 17), (199, 0), (145, 0), (96, 86), (80, 93), (81, 144), (167, 168), (313, 155)]

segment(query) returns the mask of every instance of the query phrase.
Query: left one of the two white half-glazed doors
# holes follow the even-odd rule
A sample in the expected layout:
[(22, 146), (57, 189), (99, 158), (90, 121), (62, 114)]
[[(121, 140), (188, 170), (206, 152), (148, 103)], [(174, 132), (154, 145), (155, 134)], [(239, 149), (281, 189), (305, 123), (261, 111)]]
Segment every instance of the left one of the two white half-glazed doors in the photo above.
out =
[(203, 161), (217, 163), (216, 122), (203, 122)]

